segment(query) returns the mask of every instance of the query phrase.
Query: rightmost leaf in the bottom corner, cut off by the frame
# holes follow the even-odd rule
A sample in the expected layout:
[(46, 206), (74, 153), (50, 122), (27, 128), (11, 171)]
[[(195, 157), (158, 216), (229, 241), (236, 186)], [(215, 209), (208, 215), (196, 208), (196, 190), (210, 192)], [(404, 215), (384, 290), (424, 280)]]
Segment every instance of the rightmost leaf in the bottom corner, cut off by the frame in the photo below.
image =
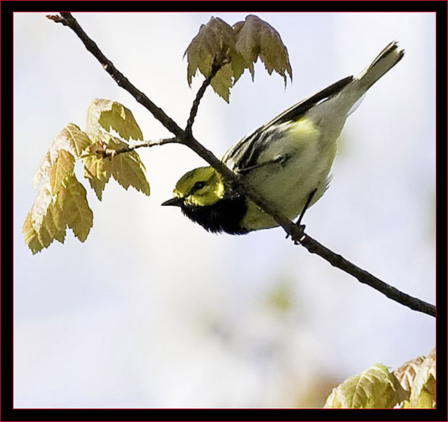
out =
[(435, 408), (436, 407), (436, 349), (420, 363), (416, 370), (414, 383), (411, 388), (409, 403), (406, 408)]

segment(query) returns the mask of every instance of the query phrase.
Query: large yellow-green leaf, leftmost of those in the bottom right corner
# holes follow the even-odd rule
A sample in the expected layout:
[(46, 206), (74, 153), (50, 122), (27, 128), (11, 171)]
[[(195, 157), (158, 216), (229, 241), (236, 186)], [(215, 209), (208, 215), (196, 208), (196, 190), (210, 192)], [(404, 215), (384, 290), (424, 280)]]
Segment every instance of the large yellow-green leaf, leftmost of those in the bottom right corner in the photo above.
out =
[(324, 407), (394, 408), (400, 401), (400, 383), (384, 365), (377, 364), (334, 388)]

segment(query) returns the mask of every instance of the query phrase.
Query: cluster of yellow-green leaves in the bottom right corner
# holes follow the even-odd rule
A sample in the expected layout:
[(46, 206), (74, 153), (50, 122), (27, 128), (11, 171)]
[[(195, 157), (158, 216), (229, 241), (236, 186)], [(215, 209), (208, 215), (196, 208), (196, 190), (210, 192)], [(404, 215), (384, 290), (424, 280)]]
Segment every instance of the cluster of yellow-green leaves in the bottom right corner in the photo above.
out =
[(325, 408), (435, 408), (436, 349), (389, 372), (378, 363), (334, 388)]

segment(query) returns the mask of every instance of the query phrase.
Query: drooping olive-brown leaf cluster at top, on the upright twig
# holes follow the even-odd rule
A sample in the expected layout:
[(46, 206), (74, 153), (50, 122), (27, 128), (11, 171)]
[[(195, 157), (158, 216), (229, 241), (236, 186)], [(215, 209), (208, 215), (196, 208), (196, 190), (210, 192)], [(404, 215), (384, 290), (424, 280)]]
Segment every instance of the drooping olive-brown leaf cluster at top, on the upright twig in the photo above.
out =
[(233, 26), (212, 17), (201, 25), (185, 51), (187, 81), (191, 85), (196, 72), (212, 78), (210, 85), (227, 103), (230, 88), (248, 69), (254, 79), (254, 63), (263, 61), (269, 74), (277, 72), (287, 81), (292, 78), (287, 48), (280, 34), (269, 23), (250, 14)]

